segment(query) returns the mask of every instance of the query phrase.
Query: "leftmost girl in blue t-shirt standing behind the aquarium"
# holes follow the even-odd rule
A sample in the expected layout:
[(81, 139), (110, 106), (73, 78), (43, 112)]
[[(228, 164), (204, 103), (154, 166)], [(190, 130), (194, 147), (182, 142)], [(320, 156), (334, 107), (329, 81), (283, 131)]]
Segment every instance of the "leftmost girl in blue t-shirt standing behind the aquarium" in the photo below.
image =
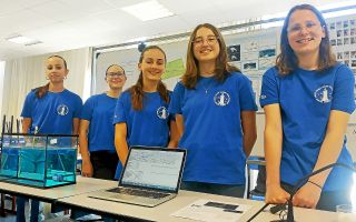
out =
[[(21, 112), (23, 133), (78, 134), (82, 101), (79, 95), (65, 88), (68, 72), (63, 58), (52, 56), (47, 59), (46, 79), (49, 82), (27, 95)], [(43, 160), (41, 165), (44, 168), (42, 152), (36, 160), (29, 162), (33, 163), (40, 159)], [(31, 169), (30, 163), (23, 164), (23, 167), (21, 169), (23, 171)], [(26, 221), (23, 198), (17, 199), (17, 221)], [(32, 201), (30, 221), (43, 221), (43, 218), (42, 212), (39, 213), (39, 202)]]

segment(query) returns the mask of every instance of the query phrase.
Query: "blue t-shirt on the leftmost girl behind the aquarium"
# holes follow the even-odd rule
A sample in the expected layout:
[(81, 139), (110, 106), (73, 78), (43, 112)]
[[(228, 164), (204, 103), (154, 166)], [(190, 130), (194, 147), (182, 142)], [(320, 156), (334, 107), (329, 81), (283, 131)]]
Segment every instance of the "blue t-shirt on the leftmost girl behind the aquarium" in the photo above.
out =
[(32, 90), (24, 100), (21, 117), (31, 118), (29, 132), (71, 134), (73, 118), (79, 118), (82, 101), (79, 95), (65, 89), (62, 92), (50, 92), (41, 99)]

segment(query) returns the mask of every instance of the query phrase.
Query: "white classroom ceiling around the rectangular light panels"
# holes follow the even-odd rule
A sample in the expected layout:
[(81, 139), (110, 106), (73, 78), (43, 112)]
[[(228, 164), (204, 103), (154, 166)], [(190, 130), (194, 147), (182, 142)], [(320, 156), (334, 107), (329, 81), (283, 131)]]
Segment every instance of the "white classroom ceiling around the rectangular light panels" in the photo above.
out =
[[(119, 44), (140, 37), (191, 31), (288, 11), (297, 0), (158, 0), (172, 17), (142, 22), (120, 8), (145, 0), (0, 0), (0, 61), (83, 47)], [(304, 1), (316, 7), (335, 0)], [(7, 41), (22, 34), (42, 43)]]

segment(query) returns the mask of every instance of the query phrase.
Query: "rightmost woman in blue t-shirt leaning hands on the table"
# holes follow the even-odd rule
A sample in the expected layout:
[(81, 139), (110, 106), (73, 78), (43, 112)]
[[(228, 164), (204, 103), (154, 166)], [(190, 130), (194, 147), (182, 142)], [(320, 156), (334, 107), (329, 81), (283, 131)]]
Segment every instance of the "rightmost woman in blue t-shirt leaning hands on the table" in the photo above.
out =
[[(285, 203), (306, 174), (327, 164), (353, 165), (345, 131), (355, 109), (354, 75), (330, 51), (327, 26), (309, 4), (290, 9), (281, 30), (276, 67), (263, 78), (266, 113), (266, 202)], [(349, 203), (353, 173), (334, 168), (308, 179), (294, 205), (335, 211)]]

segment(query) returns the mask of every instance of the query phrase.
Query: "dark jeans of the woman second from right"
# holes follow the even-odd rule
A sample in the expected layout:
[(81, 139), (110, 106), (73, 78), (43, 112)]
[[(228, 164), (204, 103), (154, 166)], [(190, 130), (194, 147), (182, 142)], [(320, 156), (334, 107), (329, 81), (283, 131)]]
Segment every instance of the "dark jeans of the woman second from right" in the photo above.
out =
[(195, 192), (211, 193), (217, 195), (228, 195), (234, 198), (244, 198), (245, 193), (245, 185), (227, 185), (191, 181), (184, 181), (180, 185), (180, 189)]

